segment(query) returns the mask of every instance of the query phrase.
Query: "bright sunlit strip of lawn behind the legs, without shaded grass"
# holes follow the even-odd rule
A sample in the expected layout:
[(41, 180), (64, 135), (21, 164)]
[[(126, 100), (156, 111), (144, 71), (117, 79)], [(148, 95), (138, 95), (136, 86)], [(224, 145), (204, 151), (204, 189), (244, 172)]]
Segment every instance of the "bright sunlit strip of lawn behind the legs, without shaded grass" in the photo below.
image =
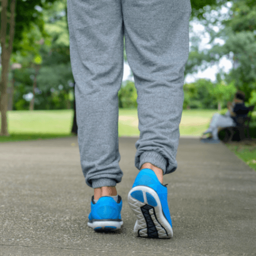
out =
[[(184, 110), (180, 124), (181, 135), (199, 136), (208, 127), (210, 118), (215, 112), (213, 110)], [(11, 137), (15, 134), (69, 136), (72, 122), (72, 110), (8, 112), (8, 130)], [(119, 137), (139, 136), (138, 124), (137, 110), (119, 110)], [(0, 141), (3, 140), (4, 138), (0, 138)]]

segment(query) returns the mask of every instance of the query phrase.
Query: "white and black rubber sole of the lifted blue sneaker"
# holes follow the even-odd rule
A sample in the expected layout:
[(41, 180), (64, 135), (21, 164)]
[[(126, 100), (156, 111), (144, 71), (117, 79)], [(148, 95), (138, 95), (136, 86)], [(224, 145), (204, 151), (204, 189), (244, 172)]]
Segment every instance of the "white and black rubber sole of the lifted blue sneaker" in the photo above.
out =
[[(143, 194), (143, 202), (131, 195), (133, 192), (140, 193), (140, 191)], [(152, 199), (148, 202), (146, 193), (155, 200)], [(148, 197), (150, 196), (148, 195)], [(132, 188), (128, 194), (128, 203), (137, 217), (133, 231), (138, 236), (151, 238), (171, 238), (173, 236), (172, 227), (162, 213), (161, 202), (154, 189), (146, 186)]]

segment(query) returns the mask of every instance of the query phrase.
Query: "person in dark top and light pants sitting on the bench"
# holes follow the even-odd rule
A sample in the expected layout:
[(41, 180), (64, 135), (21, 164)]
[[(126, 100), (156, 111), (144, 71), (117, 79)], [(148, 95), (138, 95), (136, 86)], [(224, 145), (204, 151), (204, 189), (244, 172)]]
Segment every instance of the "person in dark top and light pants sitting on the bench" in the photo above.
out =
[(238, 126), (238, 117), (246, 117), (248, 114), (248, 107), (244, 106), (245, 94), (242, 91), (237, 91), (233, 99), (233, 103), (228, 102), (227, 113), (223, 116), (219, 113), (213, 115), (209, 128), (203, 135), (211, 133), (212, 137), (201, 139), (203, 142), (219, 143), (218, 127)]

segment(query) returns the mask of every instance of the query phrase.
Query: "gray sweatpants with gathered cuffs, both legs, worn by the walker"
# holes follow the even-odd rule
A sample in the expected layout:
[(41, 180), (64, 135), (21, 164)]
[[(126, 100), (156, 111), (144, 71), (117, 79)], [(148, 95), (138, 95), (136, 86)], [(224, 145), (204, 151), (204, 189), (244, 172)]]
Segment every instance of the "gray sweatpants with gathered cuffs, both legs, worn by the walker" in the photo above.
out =
[(190, 0), (67, 0), (78, 143), (88, 186), (116, 186), (123, 42), (137, 89), (135, 167), (177, 168)]

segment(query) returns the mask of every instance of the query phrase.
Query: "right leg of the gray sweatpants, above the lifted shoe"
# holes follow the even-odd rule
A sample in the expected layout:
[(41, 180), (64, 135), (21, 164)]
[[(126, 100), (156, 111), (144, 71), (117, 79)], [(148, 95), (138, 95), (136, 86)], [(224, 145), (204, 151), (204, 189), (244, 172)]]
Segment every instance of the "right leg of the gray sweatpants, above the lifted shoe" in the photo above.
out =
[(164, 175), (177, 168), (190, 12), (189, 0), (123, 0), (127, 59), (138, 93), (138, 170), (145, 163)]

